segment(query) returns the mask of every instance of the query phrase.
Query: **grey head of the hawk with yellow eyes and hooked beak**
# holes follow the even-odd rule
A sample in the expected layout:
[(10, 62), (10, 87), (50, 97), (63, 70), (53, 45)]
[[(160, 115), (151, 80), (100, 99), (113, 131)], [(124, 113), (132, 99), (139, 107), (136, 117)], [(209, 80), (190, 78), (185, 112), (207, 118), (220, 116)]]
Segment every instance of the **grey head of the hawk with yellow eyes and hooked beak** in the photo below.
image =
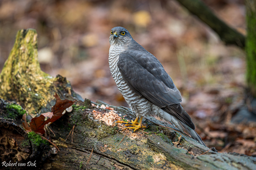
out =
[(110, 45), (125, 45), (131, 42), (131, 34), (124, 27), (114, 27), (111, 29), (109, 43)]

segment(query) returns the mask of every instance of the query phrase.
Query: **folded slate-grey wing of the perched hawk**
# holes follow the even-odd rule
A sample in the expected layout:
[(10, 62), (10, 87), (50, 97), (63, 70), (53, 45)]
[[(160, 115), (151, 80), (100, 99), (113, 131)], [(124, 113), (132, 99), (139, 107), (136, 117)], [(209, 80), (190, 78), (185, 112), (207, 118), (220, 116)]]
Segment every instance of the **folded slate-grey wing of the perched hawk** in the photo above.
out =
[[(151, 56), (150, 56), (151, 55)], [(127, 51), (117, 63), (122, 77), (137, 94), (195, 129), (188, 113), (181, 107), (181, 94), (161, 63), (150, 53)]]

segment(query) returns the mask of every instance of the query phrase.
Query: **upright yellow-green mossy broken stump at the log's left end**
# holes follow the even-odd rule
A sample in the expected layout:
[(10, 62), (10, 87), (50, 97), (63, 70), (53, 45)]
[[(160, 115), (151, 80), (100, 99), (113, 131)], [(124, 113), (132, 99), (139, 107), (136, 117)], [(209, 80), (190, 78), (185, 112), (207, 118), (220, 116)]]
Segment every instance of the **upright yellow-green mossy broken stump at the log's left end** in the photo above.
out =
[[(65, 84), (65, 87), (58, 87), (60, 84)], [(70, 96), (75, 95), (70, 83), (66, 83), (66, 78), (53, 78), (41, 71), (37, 60), (35, 29), (18, 31), (12, 51), (0, 74), (0, 97), (16, 101), (29, 113), (38, 113), (53, 99), (52, 94), (58, 91), (59, 96), (61, 91)]]

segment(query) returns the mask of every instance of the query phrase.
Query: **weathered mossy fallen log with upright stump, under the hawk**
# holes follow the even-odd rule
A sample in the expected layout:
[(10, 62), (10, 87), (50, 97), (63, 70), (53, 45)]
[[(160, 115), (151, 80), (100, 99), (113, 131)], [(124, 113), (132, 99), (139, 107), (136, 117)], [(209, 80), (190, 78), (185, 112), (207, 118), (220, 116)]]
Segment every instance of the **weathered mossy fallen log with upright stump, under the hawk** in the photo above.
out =
[[(42, 142), (36, 146), (40, 154), (34, 154), (32, 139), (17, 126), (21, 124), (21, 117), (17, 114), (12, 120), (7, 119), (8, 102), (1, 99), (0, 117), (5, 124), (0, 124), (0, 142), (6, 141), (6, 144), (0, 143), (1, 155), (8, 156), (11, 149), (14, 153), (24, 153), (23, 156), (10, 154), (13, 162), (37, 161), (37, 169), (256, 169), (256, 157), (218, 153), (151, 117), (143, 122), (153, 123), (145, 131), (131, 133), (125, 129), (119, 132), (120, 125), (112, 122), (125, 115), (126, 119), (132, 119), (130, 109), (106, 107), (107, 104), (101, 101), (83, 101), (65, 78), (43, 73), (37, 62), (37, 34), (33, 29), (18, 32), (0, 78), (0, 97), (17, 102), (31, 117), (50, 111), (55, 104), (55, 92), (62, 99), (77, 100), (72, 112), (50, 125), (55, 135), (47, 131), (47, 138), (60, 151)], [(100, 107), (102, 104), (104, 106)], [(16, 136), (8, 134), (10, 126), (18, 128)], [(72, 127), (74, 131), (66, 139)], [(28, 140), (26, 147), (21, 145)], [(9, 159), (1, 157), (1, 161)]]

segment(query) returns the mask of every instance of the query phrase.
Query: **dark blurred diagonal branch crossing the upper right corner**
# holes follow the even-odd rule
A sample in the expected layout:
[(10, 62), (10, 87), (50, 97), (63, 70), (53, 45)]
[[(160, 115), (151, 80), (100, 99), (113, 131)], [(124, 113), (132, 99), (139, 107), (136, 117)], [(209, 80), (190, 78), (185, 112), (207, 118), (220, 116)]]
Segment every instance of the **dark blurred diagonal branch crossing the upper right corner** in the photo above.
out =
[(176, 0), (192, 14), (195, 14), (201, 21), (206, 23), (215, 31), (221, 41), (225, 44), (234, 44), (238, 47), (245, 47), (245, 37), (234, 28), (221, 21), (201, 0)]

